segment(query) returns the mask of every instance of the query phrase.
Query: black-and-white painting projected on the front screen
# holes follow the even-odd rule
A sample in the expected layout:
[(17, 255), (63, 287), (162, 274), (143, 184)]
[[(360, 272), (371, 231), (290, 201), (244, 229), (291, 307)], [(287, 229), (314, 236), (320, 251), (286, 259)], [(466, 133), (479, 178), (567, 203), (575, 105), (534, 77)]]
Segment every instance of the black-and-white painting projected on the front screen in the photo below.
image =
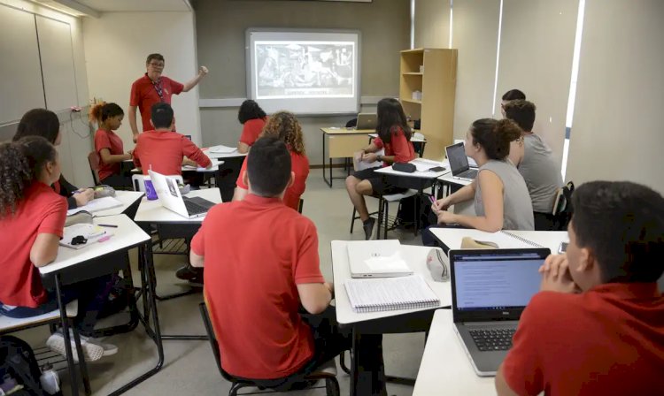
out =
[(353, 42), (256, 42), (257, 98), (351, 97)]

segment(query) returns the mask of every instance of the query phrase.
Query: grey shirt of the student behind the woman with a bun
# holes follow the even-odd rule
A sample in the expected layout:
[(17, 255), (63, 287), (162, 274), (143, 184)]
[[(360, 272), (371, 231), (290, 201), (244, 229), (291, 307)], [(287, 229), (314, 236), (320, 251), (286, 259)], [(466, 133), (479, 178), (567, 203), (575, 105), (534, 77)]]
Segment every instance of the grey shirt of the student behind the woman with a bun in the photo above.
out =
[(519, 173), (533, 202), (533, 210), (551, 213), (556, 192), (562, 187), (560, 164), (553, 159), (551, 148), (535, 133), (527, 134), (523, 140), (523, 159)]

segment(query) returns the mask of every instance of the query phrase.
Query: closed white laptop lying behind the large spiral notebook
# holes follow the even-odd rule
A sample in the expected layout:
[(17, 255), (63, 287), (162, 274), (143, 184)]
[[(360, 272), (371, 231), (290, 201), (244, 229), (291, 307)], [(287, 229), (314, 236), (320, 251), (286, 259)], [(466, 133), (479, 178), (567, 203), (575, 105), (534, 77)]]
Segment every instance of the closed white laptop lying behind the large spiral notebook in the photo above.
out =
[(354, 240), (348, 242), (351, 278), (394, 278), (412, 275), (398, 240)]

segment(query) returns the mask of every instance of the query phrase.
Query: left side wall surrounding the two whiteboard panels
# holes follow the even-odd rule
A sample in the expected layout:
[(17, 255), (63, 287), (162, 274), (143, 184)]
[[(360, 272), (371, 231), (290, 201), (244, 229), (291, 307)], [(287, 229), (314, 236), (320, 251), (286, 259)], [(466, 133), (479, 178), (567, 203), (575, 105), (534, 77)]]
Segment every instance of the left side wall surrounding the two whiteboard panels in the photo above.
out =
[[(76, 96), (78, 98), (78, 105), (85, 106), (88, 102), (88, 78), (86, 75), (81, 19), (73, 18), (50, 8), (41, 7), (37, 4), (22, 0), (0, 0), (0, 7), (12, 7), (14, 9), (28, 11), (49, 19), (64, 22), (70, 26)], [(0, 20), (0, 23), (3, 23), (3, 21)], [(12, 99), (4, 97), (3, 100)], [(71, 104), (74, 105), (75, 103)], [(27, 110), (30, 109), (26, 109), (26, 111)], [(63, 133), (62, 143), (58, 146), (62, 173), (65, 175), (66, 179), (76, 186), (85, 187), (92, 185), (92, 176), (89, 171), (87, 157), (87, 153), (92, 148), (92, 138), (89, 133), (87, 118), (81, 118), (80, 113), (59, 111), (62, 109), (51, 110), (58, 112), (61, 131)], [(16, 132), (17, 124), (18, 122), (11, 122), (0, 126), (0, 141), (11, 139)], [(80, 155), (80, 153), (85, 154)]]

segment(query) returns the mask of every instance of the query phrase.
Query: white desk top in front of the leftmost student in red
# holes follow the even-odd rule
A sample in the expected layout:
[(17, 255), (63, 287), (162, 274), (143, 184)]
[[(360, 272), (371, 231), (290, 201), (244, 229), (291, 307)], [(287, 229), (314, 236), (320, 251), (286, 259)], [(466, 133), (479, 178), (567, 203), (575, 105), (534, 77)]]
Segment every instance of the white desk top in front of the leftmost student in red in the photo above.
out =
[(136, 225), (127, 215), (93, 218), (93, 222), (96, 225), (118, 225), (118, 228), (108, 228), (109, 231), (113, 232), (113, 235), (110, 240), (104, 242), (94, 242), (80, 249), (58, 247), (58, 257), (55, 262), (40, 267), (39, 272), (42, 275), (50, 274), (100, 255), (107, 255), (150, 240), (150, 235), (143, 232), (141, 227)]

